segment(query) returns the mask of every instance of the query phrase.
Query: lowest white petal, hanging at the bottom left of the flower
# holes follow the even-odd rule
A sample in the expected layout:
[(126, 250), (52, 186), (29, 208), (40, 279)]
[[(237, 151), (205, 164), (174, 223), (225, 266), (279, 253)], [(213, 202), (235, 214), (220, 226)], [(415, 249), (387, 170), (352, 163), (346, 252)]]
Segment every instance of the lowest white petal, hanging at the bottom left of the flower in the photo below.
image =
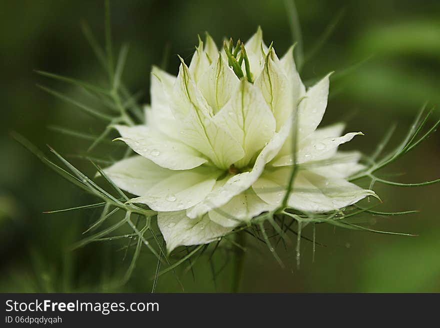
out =
[(208, 244), (232, 230), (212, 222), (207, 215), (201, 219), (189, 219), (185, 211), (159, 212), (157, 225), (168, 253), (178, 246)]

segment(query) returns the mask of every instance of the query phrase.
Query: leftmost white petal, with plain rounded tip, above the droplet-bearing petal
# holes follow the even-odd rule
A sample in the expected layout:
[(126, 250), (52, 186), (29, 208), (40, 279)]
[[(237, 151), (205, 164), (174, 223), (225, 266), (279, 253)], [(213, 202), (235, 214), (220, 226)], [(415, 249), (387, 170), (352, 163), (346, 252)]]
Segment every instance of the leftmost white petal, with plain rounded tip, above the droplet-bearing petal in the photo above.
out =
[(144, 195), (173, 171), (164, 169), (142, 156), (133, 156), (114, 163), (104, 172), (120, 189), (133, 195)]

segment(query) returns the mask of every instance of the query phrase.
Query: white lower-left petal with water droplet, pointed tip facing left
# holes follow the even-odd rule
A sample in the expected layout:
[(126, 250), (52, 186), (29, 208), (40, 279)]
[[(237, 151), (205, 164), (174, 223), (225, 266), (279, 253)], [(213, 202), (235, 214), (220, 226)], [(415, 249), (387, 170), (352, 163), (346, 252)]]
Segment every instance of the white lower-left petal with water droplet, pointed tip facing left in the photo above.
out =
[(140, 197), (131, 200), (143, 203), (153, 211), (169, 212), (184, 210), (201, 202), (212, 190), (220, 171), (210, 167), (171, 171)]

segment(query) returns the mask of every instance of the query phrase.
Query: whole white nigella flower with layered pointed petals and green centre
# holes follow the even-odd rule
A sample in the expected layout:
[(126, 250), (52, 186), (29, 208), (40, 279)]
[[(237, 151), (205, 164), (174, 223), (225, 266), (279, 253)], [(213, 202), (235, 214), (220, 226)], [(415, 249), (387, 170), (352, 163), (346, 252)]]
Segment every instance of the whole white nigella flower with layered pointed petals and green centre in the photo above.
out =
[(157, 211), (168, 251), (209, 243), (278, 208), (292, 170), (293, 135), (299, 169), (288, 207), (334, 211), (373, 195), (346, 180), (362, 168), (359, 154), (337, 151), (360, 133), (341, 136), (343, 124), (317, 129), (328, 75), (306, 90), (293, 47), (278, 59), (260, 29), (244, 46), (219, 52), (209, 36), (205, 43), (189, 67), (181, 59), (177, 77), (153, 67), (145, 125), (116, 126), (138, 155), (105, 171), (138, 196), (131, 202)]

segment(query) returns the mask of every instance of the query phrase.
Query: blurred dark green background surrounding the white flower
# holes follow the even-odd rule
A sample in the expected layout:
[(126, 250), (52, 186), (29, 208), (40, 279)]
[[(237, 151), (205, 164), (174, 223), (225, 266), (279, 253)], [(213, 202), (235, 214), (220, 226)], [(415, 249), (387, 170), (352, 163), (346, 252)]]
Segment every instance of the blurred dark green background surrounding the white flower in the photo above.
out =
[[(292, 43), (283, 1), (111, 1), (114, 51), (129, 42), (124, 71), (126, 85), (143, 90), (149, 101), (149, 71), (160, 64), (169, 44), (167, 70), (176, 73), (180, 54), (188, 62), (197, 33), (209, 31), (220, 44), (223, 36), (247, 39), (261, 25), (264, 40), (274, 41), (278, 54)], [(301, 76), (313, 81), (328, 71), (329, 105), (324, 123), (348, 120), (348, 130), (363, 131), (344, 149), (371, 152), (392, 122), (397, 142), (409, 128), (420, 105), (440, 101), (440, 2), (437, 0), (296, 1), (306, 62)], [(337, 17), (340, 19), (337, 20)], [(333, 24), (337, 20), (337, 24)], [(40, 149), (50, 144), (69, 156), (84, 153), (89, 142), (66, 137), (47, 127), (60, 125), (98, 133), (102, 123), (44, 93), (35, 84), (50, 85), (82, 99), (81, 90), (38, 76), (34, 69), (74, 76), (105, 86), (101, 70), (84, 39), (86, 21), (100, 41), (104, 38), (101, 1), (1, 1), (0, 10), (0, 291), (1, 292), (149, 292), (156, 261), (143, 251), (130, 281), (122, 277), (129, 259), (119, 242), (90, 244), (76, 251), (68, 246), (98, 211), (42, 214), (45, 210), (95, 202), (55, 173), (9, 135), (23, 134)], [(334, 26), (333, 26), (334, 25)], [(330, 26), (330, 27), (329, 27)], [(318, 51), (322, 33), (332, 31)], [(312, 56), (310, 56), (310, 52)], [(315, 52), (313, 54), (313, 52)], [(107, 146), (106, 154), (116, 146)], [(70, 157), (88, 174), (91, 165)], [(440, 177), (440, 133), (388, 168), (406, 175), (400, 182)], [(243, 292), (440, 292), (440, 185), (404, 189), (376, 184), (383, 200), (378, 210), (412, 210), (402, 217), (368, 217), (374, 229), (409, 232), (400, 237), (316, 226), (311, 243), (301, 243), (301, 266), (295, 268), (294, 245), (285, 252), (281, 269), (265, 245), (251, 241), (246, 254)], [(311, 236), (311, 227), (304, 229)], [(215, 256), (219, 269), (226, 256)], [(186, 292), (227, 291), (230, 265), (216, 282), (200, 259), (191, 272), (179, 270)], [(181, 291), (172, 274), (158, 281), (157, 292)]]

